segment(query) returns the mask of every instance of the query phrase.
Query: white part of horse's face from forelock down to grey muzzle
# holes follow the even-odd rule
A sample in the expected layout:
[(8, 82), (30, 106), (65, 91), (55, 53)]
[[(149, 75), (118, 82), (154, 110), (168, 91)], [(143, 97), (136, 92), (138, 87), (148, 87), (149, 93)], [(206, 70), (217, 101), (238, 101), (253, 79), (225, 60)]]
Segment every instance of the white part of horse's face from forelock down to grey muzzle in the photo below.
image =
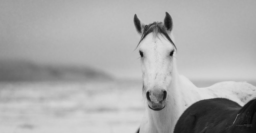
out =
[(174, 46), (162, 35), (154, 37), (150, 33), (140, 43), (139, 50), (143, 52), (141, 68), (146, 90), (154, 87), (166, 89), (172, 79), (175, 54), (170, 56), (170, 52), (175, 50)]

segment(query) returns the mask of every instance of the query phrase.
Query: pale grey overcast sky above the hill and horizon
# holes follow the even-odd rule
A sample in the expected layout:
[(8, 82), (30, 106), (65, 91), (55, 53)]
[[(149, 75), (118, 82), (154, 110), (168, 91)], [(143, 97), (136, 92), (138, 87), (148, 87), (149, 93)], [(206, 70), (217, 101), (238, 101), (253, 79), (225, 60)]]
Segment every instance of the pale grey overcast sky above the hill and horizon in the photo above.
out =
[(256, 80), (256, 1), (0, 2), (0, 58), (86, 65), (141, 78), (144, 23), (173, 18), (178, 70), (192, 79)]

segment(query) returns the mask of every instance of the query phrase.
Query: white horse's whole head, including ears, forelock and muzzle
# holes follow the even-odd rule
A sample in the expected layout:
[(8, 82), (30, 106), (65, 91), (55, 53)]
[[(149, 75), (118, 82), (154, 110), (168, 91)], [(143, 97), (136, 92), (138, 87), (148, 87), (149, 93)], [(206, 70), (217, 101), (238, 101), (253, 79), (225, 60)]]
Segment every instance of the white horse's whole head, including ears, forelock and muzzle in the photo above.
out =
[(143, 93), (148, 107), (155, 111), (165, 107), (176, 49), (169, 36), (173, 27), (172, 18), (168, 12), (165, 14), (164, 23), (145, 25), (136, 14), (133, 20), (137, 32), (142, 36), (138, 49), (141, 56)]

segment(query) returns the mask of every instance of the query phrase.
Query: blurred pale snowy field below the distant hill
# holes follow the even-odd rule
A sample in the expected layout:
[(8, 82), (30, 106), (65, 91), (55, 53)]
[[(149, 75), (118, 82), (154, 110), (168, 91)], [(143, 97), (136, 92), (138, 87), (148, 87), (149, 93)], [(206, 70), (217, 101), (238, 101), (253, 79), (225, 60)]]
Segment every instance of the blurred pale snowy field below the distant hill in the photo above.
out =
[(1, 133), (133, 133), (144, 110), (141, 81), (0, 82)]

